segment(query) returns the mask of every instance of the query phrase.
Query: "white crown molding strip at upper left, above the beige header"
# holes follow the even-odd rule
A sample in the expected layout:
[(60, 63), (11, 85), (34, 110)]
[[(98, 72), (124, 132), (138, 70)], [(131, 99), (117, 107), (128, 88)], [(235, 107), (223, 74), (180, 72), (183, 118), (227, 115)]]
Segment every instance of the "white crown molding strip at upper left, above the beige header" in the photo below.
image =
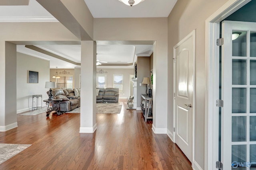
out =
[(0, 17), (0, 22), (58, 22), (53, 16), (13, 16)]

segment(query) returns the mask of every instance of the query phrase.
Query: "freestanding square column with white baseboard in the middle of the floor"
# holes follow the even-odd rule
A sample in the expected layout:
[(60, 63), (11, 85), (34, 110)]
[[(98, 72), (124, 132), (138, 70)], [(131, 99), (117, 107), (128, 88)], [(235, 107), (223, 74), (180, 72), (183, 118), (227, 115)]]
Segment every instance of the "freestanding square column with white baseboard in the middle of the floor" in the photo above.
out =
[(81, 42), (80, 133), (93, 133), (96, 128), (96, 43)]

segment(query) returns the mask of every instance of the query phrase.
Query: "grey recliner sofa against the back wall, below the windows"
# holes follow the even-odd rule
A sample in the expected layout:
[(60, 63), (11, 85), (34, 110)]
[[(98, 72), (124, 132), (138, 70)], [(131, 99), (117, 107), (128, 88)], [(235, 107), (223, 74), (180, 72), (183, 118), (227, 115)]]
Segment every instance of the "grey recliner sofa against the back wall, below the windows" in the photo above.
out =
[(99, 93), (96, 94), (97, 103), (118, 103), (119, 88), (96, 88)]

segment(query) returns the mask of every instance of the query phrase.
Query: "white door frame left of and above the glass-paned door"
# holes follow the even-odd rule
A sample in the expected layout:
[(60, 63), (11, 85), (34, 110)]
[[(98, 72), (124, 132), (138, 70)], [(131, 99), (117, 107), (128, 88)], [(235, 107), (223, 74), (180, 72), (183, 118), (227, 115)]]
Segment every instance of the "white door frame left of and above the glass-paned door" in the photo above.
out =
[(220, 21), (234, 13), (251, 0), (229, 0), (206, 20), (205, 24), (205, 160), (204, 169), (214, 170), (218, 161), (219, 109), (219, 48), (216, 39), (220, 35)]

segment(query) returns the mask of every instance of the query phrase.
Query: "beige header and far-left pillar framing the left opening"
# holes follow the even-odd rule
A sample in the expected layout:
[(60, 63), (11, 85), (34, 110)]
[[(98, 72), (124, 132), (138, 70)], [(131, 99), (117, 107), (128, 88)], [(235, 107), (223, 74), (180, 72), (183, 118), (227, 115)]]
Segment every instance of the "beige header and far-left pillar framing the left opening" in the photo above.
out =
[[(11, 69), (15, 68), (16, 70), (15, 44), (45, 44), (46, 41), (55, 41), (56, 43), (69, 41), (72, 43), (77, 42), (78, 39), (58, 22), (0, 23), (0, 28), (0, 71), (2, 73), (0, 78), (4, 80), (4, 82), (0, 84), (0, 88), (4, 90), (4, 92), (2, 92), (3, 97), (0, 99), (0, 131), (6, 131), (14, 128), (17, 122), (17, 104), (13, 104), (17, 99), (16, 71)], [(14, 47), (11, 47), (11, 43), (6, 43), (7, 41), (15, 43)], [(12, 57), (8, 57), (8, 55)], [(14, 56), (15, 62), (12, 61)], [(17, 63), (17, 65), (18, 64), (19, 63)], [(10, 81), (12, 77), (13, 79)], [(10, 95), (10, 92), (15, 94)], [(12, 106), (9, 106), (10, 104), (12, 104)]]

